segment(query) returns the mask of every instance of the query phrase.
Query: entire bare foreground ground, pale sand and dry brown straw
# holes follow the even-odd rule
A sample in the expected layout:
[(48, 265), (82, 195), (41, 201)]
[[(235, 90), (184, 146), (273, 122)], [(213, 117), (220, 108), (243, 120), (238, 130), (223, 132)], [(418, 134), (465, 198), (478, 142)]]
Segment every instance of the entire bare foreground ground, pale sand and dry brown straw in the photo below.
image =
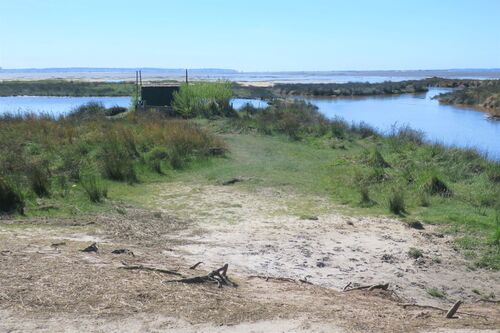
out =
[[(0, 332), (494, 332), (498, 273), (468, 271), (439, 230), (342, 216), (307, 198), (318, 219), (297, 217), (304, 197), (241, 185), (157, 185), (151, 211), (74, 219), (0, 221)], [(160, 213), (161, 211), (161, 213)], [(80, 250), (98, 242), (98, 253)], [(424, 257), (407, 256), (409, 247)], [(112, 254), (127, 248), (134, 253)], [(440, 258), (441, 262), (435, 258)], [(433, 260), (434, 259), (434, 260)], [(203, 261), (196, 270), (189, 267)], [(237, 288), (164, 283), (229, 263)], [(263, 279), (287, 277), (292, 280)], [(303, 283), (298, 279), (313, 283)], [(387, 291), (342, 292), (347, 282)], [(426, 288), (447, 293), (431, 298)], [(442, 311), (465, 300), (457, 319)], [(473, 313), (474, 316), (464, 314)]]

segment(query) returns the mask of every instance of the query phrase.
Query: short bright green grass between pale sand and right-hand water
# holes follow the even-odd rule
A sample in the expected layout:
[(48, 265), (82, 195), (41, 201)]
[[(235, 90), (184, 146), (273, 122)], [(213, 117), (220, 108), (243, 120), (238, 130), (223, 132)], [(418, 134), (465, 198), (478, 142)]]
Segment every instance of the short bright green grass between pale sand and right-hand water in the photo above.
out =
[[(204, 124), (226, 131), (226, 121)], [(390, 138), (373, 136), (343, 140), (345, 149), (331, 148), (335, 146), (332, 139), (324, 137), (294, 141), (285, 135), (240, 133), (225, 134), (224, 139), (230, 151), (228, 158), (195, 165), (176, 179), (215, 183), (243, 176), (251, 180), (239, 186), (273, 187), (324, 196), (338, 204), (344, 213), (360, 215), (390, 214), (388, 202), (394, 188), (404, 187), (403, 220), (442, 225), (457, 239), (468, 235), (475, 244), (469, 250), (476, 253), (471, 258), (473, 265), (500, 269), (494, 207), (499, 198), (499, 184), (492, 183), (487, 173), (481, 171), (490, 162), (479, 156), (469, 156), (466, 160), (468, 155), (461, 157), (460, 151), (425, 144), (396, 145), (395, 151)], [(369, 152), (375, 147), (391, 165), (383, 176), (372, 174)], [(357, 177), (367, 184), (369, 205), (360, 204)], [(433, 183), (433, 177), (446, 181), (453, 196), (430, 194), (426, 184)], [(317, 213), (306, 207), (300, 215), (307, 214)], [(462, 250), (458, 243), (457, 248)]]

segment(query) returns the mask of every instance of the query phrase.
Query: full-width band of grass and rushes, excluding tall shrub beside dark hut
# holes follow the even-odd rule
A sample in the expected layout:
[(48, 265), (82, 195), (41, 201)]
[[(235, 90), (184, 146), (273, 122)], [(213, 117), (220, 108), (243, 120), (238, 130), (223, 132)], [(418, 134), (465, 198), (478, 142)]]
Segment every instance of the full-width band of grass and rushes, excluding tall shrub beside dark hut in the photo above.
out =
[[(275, 188), (298, 194), (290, 205), (298, 217), (321, 214), (322, 208), (308, 199), (313, 196), (328, 198), (346, 214), (383, 216), (391, 214), (389, 202), (398, 199), (393, 212), (400, 219), (442, 225), (471, 266), (500, 269), (499, 167), (475, 151), (425, 144), (420, 133), (408, 128), (382, 137), (363, 124), (329, 121), (304, 103), (277, 102), (264, 112), (252, 110), (232, 119), (160, 122), (151, 117), (83, 124), (6, 121), (0, 128), (0, 136), (6, 138), (2, 142), (9, 143), (1, 174), (48, 160), (51, 175), (66, 176), (66, 181), (57, 182), (59, 178), (51, 177), (48, 197), (37, 198), (28, 185), (12, 187), (24, 189), (20, 197), (26, 198), (28, 214), (40, 215), (110, 209), (106, 201), (92, 204), (82, 188), (79, 175), (89, 172), (108, 178), (103, 185), (113, 202), (144, 206), (157, 194), (148, 184), (220, 184), (240, 176), (248, 180), (238, 186), (249, 190)], [(213, 132), (221, 134), (224, 143)], [(227, 146), (227, 157), (208, 158), (216, 145)], [(75, 163), (80, 155), (85, 156), (82, 163)], [(121, 167), (122, 160), (130, 163), (137, 181), (115, 181), (105, 168), (110, 157), (112, 166)], [(26, 183), (23, 170), (16, 178), (19, 184)], [(8, 184), (16, 179), (8, 179)], [(403, 197), (395, 196), (403, 190)], [(40, 200), (60, 208), (37, 211)]]

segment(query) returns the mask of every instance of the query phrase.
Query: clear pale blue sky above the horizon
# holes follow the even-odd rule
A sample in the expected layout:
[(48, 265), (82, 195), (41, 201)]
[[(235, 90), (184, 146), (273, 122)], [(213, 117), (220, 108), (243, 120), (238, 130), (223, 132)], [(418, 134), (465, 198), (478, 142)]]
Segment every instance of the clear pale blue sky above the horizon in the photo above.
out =
[(500, 67), (500, 0), (0, 0), (0, 67)]

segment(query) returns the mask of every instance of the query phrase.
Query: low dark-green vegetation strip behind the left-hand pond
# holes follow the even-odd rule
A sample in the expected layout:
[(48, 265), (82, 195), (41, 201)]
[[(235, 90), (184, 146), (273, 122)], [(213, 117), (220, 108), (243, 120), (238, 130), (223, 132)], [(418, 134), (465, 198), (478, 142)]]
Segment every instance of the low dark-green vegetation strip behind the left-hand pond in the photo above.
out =
[(131, 96), (134, 84), (65, 80), (2, 81), (0, 96)]

